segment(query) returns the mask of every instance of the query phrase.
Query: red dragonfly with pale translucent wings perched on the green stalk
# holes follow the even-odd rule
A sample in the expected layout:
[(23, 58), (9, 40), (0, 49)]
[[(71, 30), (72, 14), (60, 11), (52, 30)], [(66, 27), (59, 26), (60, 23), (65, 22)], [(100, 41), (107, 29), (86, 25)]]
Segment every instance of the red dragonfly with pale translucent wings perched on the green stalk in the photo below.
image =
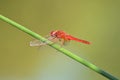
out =
[[(77, 41), (77, 42), (80, 42), (80, 43), (84, 43), (84, 44), (91, 44), (89, 41), (76, 38), (76, 37), (74, 37), (74, 36), (66, 33), (63, 30), (54, 30), (54, 31), (51, 31), (49, 33), (48, 40), (53, 41), (53, 42), (56, 41), (56, 40), (60, 41), (61, 45), (65, 45), (66, 42), (69, 42), (71, 40)], [(34, 41), (30, 42), (30, 46), (41, 46), (41, 45), (46, 45), (46, 44), (47, 43), (40, 42), (39, 40), (34, 40)]]

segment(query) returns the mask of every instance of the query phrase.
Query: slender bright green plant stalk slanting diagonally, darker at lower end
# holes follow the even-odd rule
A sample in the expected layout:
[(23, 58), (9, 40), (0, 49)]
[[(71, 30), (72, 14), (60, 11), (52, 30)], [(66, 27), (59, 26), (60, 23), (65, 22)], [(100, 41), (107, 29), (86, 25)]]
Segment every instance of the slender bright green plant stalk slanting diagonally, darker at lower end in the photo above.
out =
[(48, 44), (49, 46), (51, 46), (51, 47), (53, 47), (54, 49), (62, 52), (62, 53), (65, 54), (65, 55), (69, 56), (70, 58), (74, 59), (75, 61), (77, 61), (77, 62), (79, 62), (79, 63), (82, 63), (82, 64), (85, 65), (86, 67), (88, 67), (88, 68), (92, 69), (93, 71), (101, 74), (102, 76), (104, 76), (104, 77), (106, 77), (106, 78), (108, 78), (108, 79), (110, 79), (110, 80), (118, 80), (116, 77), (112, 76), (112, 75), (109, 74), (108, 72), (105, 72), (104, 70), (98, 68), (97, 66), (95, 66), (94, 64), (86, 61), (85, 59), (83, 59), (83, 58), (81, 58), (81, 57), (73, 54), (72, 52), (70, 52), (70, 51), (68, 51), (68, 50), (66, 50), (66, 49), (64, 49), (64, 48), (61, 48), (61, 46), (59, 46), (59, 45), (57, 45), (57, 44), (53, 44), (53, 42), (47, 40), (46, 38), (40, 36), (40, 35), (37, 34), (37, 33), (31, 31), (30, 29), (28, 29), (28, 28), (26, 28), (26, 27), (24, 27), (24, 26), (16, 23), (15, 21), (13, 21), (13, 20), (11, 20), (11, 19), (9, 19), (9, 18), (7, 18), (7, 17), (5, 17), (5, 16), (3, 16), (3, 15), (0, 15), (0, 19), (1, 19), (2, 21), (5, 21), (5, 22), (13, 25), (13, 26), (16, 27), (17, 29), (19, 29), (19, 30), (21, 30), (21, 31), (23, 31), (23, 32), (31, 35), (32, 37), (34, 37), (34, 38), (36, 38), (36, 39), (38, 39), (38, 40), (40, 40), (40, 41), (42, 41), (42, 42), (47, 42), (47, 44)]

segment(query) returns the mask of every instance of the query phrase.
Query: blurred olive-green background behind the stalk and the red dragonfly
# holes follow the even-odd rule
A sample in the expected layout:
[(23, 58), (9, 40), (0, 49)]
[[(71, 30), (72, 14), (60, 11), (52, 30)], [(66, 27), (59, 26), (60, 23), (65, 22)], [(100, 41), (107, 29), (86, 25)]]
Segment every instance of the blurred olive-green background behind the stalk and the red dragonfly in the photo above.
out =
[[(42, 36), (64, 30), (92, 42), (64, 46), (120, 77), (119, 0), (0, 0), (0, 14)], [(0, 80), (107, 80), (28, 34), (0, 21)]]

